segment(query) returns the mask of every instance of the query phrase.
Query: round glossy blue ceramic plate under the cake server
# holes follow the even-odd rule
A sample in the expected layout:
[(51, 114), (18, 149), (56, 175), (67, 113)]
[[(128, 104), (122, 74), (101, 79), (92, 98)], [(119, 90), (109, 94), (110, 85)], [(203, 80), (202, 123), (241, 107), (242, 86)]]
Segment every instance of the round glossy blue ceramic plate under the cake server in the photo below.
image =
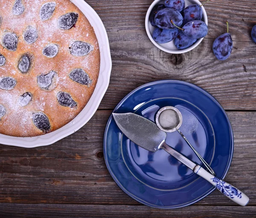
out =
[[(143, 85), (128, 94), (115, 113), (136, 113), (155, 122), (160, 108), (173, 106), (183, 116), (181, 132), (224, 178), (233, 157), (233, 131), (215, 98), (187, 82), (163, 80)], [(179, 133), (168, 133), (167, 144), (201, 164)], [(155, 153), (131, 142), (111, 116), (105, 130), (104, 155), (116, 184), (129, 196), (150, 207), (174, 209), (201, 200), (215, 188), (166, 151)]]

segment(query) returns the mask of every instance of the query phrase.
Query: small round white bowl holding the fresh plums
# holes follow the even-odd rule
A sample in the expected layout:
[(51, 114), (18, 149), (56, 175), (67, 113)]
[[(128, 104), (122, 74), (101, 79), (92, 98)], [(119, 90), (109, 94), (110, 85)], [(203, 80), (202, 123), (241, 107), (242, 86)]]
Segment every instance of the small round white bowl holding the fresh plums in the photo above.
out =
[[(153, 37), (153, 31), (155, 29), (154, 26), (152, 26), (149, 22), (149, 14), (152, 11), (153, 7), (155, 5), (158, 4), (164, 4), (164, 0), (154, 0), (154, 2), (151, 4), (151, 6), (148, 8), (147, 14), (146, 14), (146, 18), (145, 18), (145, 27), (146, 27), (146, 32), (148, 34), (148, 38), (151, 40), (151, 42), (157, 46), (157, 48), (161, 49), (162, 51), (171, 53), (171, 54), (182, 54), (188, 51), (191, 51), (192, 49), (194, 49), (196, 46), (198, 46), (200, 44), (200, 42), (202, 42), (202, 40), (204, 38), (198, 39), (195, 44), (191, 45), (189, 48), (185, 48), (182, 50), (177, 49), (177, 47), (174, 44), (174, 40), (172, 42), (168, 42), (168, 43), (157, 43)], [(199, 0), (185, 0), (185, 7), (189, 6), (189, 5), (193, 5), (193, 4), (198, 4), (201, 5), (202, 3)], [(203, 10), (203, 18), (202, 21), (204, 21), (204, 23), (206, 23), (206, 25), (208, 25), (208, 20), (207, 20), (207, 14), (206, 11), (204, 10), (204, 6), (202, 6), (202, 10)]]

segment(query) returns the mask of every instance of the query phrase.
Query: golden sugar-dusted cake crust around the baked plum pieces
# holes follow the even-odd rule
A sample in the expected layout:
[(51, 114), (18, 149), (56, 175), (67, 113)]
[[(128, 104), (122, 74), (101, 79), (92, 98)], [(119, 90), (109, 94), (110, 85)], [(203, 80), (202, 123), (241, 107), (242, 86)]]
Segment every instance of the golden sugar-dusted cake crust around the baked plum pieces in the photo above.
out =
[[(0, 0), (0, 54), (6, 58), (6, 63), (0, 66), (0, 79), (12, 77), (17, 84), (12, 90), (0, 89), (0, 105), (6, 109), (0, 119), (0, 133), (9, 136), (38, 136), (46, 133), (38, 129), (33, 122), (33, 113), (44, 113), (49, 119), (51, 132), (66, 125), (74, 119), (89, 101), (99, 76), (100, 54), (99, 45), (93, 27), (84, 14), (69, 0), (21, 0), (25, 10), (20, 15), (14, 15), (12, 8), (15, 0)], [(56, 3), (55, 10), (49, 20), (42, 21), (39, 16), (41, 6), (45, 3)], [(58, 27), (58, 18), (64, 14), (78, 14), (76, 24), (62, 30)], [(23, 33), (28, 26), (36, 28), (38, 39), (28, 44)], [(9, 51), (3, 46), (3, 36), (15, 33), (18, 37), (17, 50)], [(85, 56), (70, 54), (70, 45), (75, 41), (87, 42), (93, 46), (93, 51)], [(58, 45), (58, 54), (49, 58), (42, 54), (49, 44)], [(28, 73), (23, 74), (18, 69), (18, 62), (23, 54), (32, 55), (32, 65)], [(91, 80), (90, 85), (82, 85), (70, 79), (69, 74), (76, 68), (83, 69)], [(41, 74), (55, 71), (55, 88), (45, 90), (38, 86), (37, 78)], [(18, 99), (23, 93), (32, 93), (32, 100), (26, 106), (21, 106)], [(60, 105), (57, 99), (59, 92), (67, 92), (77, 103), (75, 108)]]

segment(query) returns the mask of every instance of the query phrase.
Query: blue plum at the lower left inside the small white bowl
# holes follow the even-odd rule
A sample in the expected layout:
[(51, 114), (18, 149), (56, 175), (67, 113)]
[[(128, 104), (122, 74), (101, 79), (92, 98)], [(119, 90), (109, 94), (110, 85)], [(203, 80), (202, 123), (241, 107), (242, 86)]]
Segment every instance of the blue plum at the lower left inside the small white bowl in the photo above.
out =
[(167, 43), (174, 40), (178, 34), (179, 30), (176, 29), (161, 29), (159, 27), (155, 28), (153, 32), (153, 39), (158, 43)]

